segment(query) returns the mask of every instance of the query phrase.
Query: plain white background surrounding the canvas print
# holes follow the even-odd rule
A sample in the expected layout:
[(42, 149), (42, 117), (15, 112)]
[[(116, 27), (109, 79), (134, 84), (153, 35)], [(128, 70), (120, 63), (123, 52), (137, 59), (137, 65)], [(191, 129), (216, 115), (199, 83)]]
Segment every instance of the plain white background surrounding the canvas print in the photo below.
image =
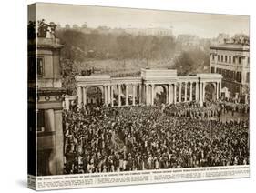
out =
[[(1, 192), (28, 192), (26, 188), (26, 13), (36, 0), (8, 0), (1, 4)], [(70, 0), (38, 2), (71, 3)], [(192, 183), (156, 184), (112, 188), (88, 188), (87, 192), (255, 192), (256, 181), (256, 2), (253, 0), (72, 0), (72, 4), (124, 6), (177, 11), (251, 15), (251, 178), (210, 180)], [(74, 192), (85, 192), (77, 189)], [(31, 191), (32, 192), (32, 191)], [(56, 192), (56, 191), (52, 191)], [(57, 191), (59, 192), (59, 191)], [(62, 192), (70, 192), (63, 190)]]

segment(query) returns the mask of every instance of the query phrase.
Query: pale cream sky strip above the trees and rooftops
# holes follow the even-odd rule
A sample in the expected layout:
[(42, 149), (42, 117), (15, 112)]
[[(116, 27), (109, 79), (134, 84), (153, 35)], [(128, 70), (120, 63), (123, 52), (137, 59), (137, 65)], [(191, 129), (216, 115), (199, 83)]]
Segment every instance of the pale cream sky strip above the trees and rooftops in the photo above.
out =
[(150, 28), (172, 27), (175, 36), (191, 34), (205, 38), (227, 33), (249, 35), (250, 17), (248, 15), (217, 15), (148, 9), (131, 9), (89, 5), (37, 4), (37, 20), (55, 22), (65, 26), (83, 25), (111, 28)]

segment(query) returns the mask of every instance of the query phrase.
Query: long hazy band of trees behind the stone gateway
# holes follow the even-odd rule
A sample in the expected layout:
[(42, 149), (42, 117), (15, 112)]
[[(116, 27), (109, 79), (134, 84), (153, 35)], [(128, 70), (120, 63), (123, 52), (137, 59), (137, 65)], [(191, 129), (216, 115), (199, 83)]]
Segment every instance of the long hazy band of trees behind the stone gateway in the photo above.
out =
[(77, 30), (61, 30), (56, 36), (64, 45), (62, 56), (73, 61), (95, 59), (163, 59), (175, 51), (174, 36), (132, 36), (127, 33), (85, 34)]

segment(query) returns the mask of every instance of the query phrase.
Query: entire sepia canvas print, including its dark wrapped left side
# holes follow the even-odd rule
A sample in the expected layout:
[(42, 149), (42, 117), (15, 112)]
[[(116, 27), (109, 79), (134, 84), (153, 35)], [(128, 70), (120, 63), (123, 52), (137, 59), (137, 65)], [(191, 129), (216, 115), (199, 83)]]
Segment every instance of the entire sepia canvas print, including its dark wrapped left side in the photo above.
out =
[(28, 187), (248, 178), (249, 21), (28, 5)]

